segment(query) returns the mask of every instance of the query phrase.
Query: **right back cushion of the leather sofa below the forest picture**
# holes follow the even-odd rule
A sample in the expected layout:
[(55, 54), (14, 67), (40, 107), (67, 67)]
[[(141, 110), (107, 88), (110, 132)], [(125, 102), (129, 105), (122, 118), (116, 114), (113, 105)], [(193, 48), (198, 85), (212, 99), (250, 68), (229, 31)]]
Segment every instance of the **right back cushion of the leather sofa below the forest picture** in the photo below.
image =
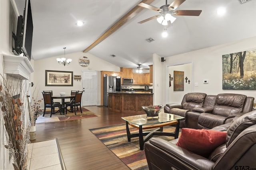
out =
[(242, 94), (218, 94), (212, 113), (225, 117), (240, 113), (243, 110), (246, 97)]

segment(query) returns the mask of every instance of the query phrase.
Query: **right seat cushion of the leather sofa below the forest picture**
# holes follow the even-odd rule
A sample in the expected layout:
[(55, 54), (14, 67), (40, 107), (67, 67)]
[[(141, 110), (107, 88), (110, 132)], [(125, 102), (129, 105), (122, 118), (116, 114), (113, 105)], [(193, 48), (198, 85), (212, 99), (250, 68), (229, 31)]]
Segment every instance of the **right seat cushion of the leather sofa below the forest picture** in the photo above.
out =
[(225, 120), (226, 120), (226, 117), (221, 115), (213, 115), (211, 113), (201, 113), (198, 116), (198, 125), (201, 125), (204, 129), (212, 129), (218, 125), (224, 124)]

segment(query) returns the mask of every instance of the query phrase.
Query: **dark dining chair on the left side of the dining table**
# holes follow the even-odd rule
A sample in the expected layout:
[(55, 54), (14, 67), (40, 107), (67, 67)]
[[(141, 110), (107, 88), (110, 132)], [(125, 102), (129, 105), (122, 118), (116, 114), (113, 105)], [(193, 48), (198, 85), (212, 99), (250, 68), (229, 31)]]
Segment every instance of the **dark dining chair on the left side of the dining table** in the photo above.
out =
[[(50, 107), (51, 108), (50, 117), (52, 117), (52, 113), (54, 114), (60, 111), (60, 108), (62, 107), (62, 105), (57, 103), (56, 104), (52, 103), (52, 95), (50, 93), (42, 92), (42, 94), (44, 97), (44, 114), (45, 114), (46, 108)], [(54, 111), (55, 107), (58, 107), (57, 111)], [(44, 114), (43, 114), (43, 117), (44, 117)]]

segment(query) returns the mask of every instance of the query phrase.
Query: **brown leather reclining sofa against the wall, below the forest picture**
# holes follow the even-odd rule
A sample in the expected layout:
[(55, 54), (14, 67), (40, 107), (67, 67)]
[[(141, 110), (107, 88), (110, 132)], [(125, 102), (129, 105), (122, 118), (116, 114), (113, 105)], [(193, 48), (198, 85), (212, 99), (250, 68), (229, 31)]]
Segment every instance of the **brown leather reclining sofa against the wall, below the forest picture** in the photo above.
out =
[(212, 129), (252, 111), (253, 103), (253, 97), (242, 94), (188, 93), (181, 104), (166, 104), (164, 112), (185, 117), (180, 121), (180, 128)]

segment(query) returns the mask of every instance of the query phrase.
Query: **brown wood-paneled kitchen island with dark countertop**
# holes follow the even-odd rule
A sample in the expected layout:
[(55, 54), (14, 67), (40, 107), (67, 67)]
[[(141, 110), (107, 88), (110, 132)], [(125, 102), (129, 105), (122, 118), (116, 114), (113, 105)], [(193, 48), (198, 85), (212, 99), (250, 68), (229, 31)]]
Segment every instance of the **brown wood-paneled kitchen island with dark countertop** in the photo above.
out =
[(108, 93), (108, 109), (119, 113), (145, 113), (141, 106), (153, 105), (153, 93)]

